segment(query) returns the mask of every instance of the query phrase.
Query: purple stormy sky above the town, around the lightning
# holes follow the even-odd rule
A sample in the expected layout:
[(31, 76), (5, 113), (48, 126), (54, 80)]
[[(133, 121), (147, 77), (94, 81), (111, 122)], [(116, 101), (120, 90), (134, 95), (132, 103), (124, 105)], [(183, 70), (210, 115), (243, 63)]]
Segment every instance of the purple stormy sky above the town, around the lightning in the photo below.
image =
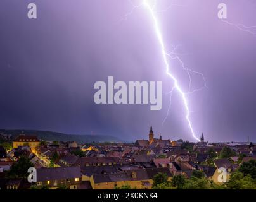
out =
[[(179, 0), (157, 13), (167, 50), (177, 49), (184, 64), (204, 74), (208, 89), (188, 97), (195, 133), (209, 141), (256, 141), (256, 35), (217, 18), (227, 4), (231, 23), (256, 25), (253, 0)], [(146, 9), (129, 1), (44, 0), (37, 20), (27, 18), (32, 1), (0, 2), (0, 128), (41, 129), (70, 134), (108, 134), (123, 140), (158, 136), (191, 140), (186, 113), (165, 74), (160, 44)], [(134, 1), (138, 4), (139, 1)], [(157, 1), (158, 10), (170, 1)], [(252, 28), (253, 30), (253, 28)], [(253, 30), (256, 32), (256, 28)], [(188, 75), (170, 62), (184, 91)], [(122, 81), (163, 81), (163, 108), (96, 105), (93, 85), (108, 76)], [(203, 86), (193, 74), (192, 87)]]

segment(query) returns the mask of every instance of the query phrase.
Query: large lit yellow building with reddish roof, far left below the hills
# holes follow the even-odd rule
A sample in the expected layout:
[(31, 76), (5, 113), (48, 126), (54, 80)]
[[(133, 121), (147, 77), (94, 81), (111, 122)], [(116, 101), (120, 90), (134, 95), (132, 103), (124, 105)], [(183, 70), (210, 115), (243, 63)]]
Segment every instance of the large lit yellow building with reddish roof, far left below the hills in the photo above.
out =
[(39, 146), (40, 140), (37, 139), (37, 136), (29, 136), (25, 134), (20, 134), (13, 141), (13, 148), (18, 148), (18, 146), (29, 146), (32, 150)]

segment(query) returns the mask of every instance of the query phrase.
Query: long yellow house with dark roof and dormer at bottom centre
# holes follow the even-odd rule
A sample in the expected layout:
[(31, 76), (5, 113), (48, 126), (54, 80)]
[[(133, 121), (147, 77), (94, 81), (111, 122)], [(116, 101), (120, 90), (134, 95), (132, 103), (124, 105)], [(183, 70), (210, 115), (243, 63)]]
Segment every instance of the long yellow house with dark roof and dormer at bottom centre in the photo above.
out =
[(153, 177), (159, 172), (167, 174), (169, 179), (172, 177), (168, 168), (151, 168), (125, 170), (117, 174), (96, 174), (91, 176), (90, 181), (93, 189), (115, 189), (125, 184), (137, 189), (151, 189)]

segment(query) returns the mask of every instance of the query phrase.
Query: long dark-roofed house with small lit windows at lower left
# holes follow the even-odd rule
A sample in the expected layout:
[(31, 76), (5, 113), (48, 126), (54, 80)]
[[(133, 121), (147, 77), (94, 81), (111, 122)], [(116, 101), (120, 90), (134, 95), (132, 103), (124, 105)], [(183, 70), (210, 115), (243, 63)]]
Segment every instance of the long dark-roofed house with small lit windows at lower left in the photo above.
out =
[(37, 186), (48, 186), (56, 189), (67, 186), (67, 189), (77, 189), (82, 181), (80, 167), (53, 167), (37, 169)]

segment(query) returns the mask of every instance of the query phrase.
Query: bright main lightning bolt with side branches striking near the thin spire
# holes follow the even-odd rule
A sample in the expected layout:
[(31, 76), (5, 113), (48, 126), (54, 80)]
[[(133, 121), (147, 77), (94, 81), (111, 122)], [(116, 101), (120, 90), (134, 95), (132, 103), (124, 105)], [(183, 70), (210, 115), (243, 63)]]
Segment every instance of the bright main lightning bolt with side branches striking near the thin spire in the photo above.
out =
[[(124, 18), (121, 19), (121, 21), (122, 20), (127, 20), (127, 17), (129, 15), (132, 15), (132, 13), (134, 12), (135, 9), (141, 8), (141, 6), (144, 6), (144, 8), (146, 8), (148, 10), (148, 13), (150, 14), (151, 20), (153, 22), (153, 27), (155, 29), (155, 33), (157, 35), (158, 42), (159, 42), (161, 50), (162, 50), (163, 63), (165, 64), (165, 72), (172, 79), (172, 81), (174, 81), (174, 86), (172, 87), (172, 90), (169, 92), (169, 94), (170, 94), (170, 103), (169, 103), (169, 107), (168, 107), (168, 110), (167, 110), (167, 116), (165, 117), (165, 119), (163, 119), (163, 124), (167, 120), (167, 117), (169, 116), (170, 107), (172, 105), (172, 93), (174, 92), (174, 90), (176, 90), (179, 93), (179, 95), (182, 99), (182, 103), (184, 105), (184, 108), (186, 109), (186, 121), (188, 122), (189, 130), (191, 131), (191, 134), (192, 134), (193, 138), (195, 138), (197, 141), (200, 141), (200, 139), (195, 136), (195, 132), (193, 130), (193, 126), (192, 126), (191, 120), (189, 118), (190, 111), (189, 111), (187, 95), (189, 95), (190, 93), (194, 93), (194, 92), (197, 92), (199, 90), (202, 90), (205, 87), (207, 88), (205, 77), (203, 76), (203, 74), (201, 74), (197, 71), (193, 71), (189, 68), (186, 68), (184, 62), (181, 60), (181, 58), (179, 56), (177, 56), (178, 55), (176, 53), (177, 46), (174, 47), (172, 52), (169, 52), (169, 53), (167, 52), (167, 50), (165, 48), (165, 43), (163, 42), (163, 37), (162, 37), (160, 26), (159, 26), (159, 23), (158, 23), (158, 20), (157, 20), (157, 16), (155, 15), (156, 1), (153, 1), (152, 5), (149, 3), (149, 0), (143, 0), (143, 2), (139, 5), (134, 5), (131, 1), (129, 1), (129, 2), (132, 4), (133, 8), (129, 13), (127, 13), (124, 16)], [(175, 4), (171, 4), (167, 9), (171, 8), (174, 5)], [(177, 6), (181, 6), (181, 5), (177, 5)], [(162, 10), (162, 11), (167, 11), (167, 9)], [(160, 11), (160, 12), (162, 12), (162, 11)], [(172, 74), (170, 72), (169, 59), (177, 60), (181, 64), (182, 69), (184, 69), (188, 73), (189, 87), (188, 87), (188, 92), (187, 93), (182, 90), (181, 86), (179, 85), (179, 82), (178, 82), (177, 78), (174, 76), (174, 74)], [(195, 90), (191, 91), (191, 73), (199, 74), (200, 76), (202, 76), (203, 81), (205, 83), (205, 86), (203, 88), (199, 88), (199, 89), (195, 89)]]

